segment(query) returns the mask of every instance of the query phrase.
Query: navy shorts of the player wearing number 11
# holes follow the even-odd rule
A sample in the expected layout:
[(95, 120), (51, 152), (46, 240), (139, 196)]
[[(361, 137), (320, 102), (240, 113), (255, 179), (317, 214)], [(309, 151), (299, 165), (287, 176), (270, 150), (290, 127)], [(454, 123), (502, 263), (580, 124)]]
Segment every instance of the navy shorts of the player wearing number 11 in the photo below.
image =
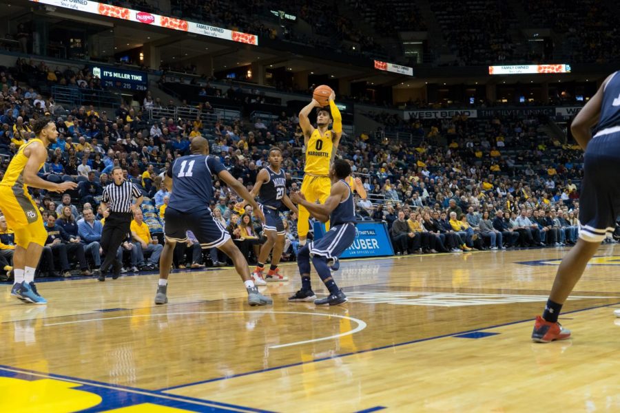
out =
[(167, 207), (164, 213), (164, 234), (167, 240), (187, 242), (187, 231), (192, 231), (202, 248), (214, 248), (230, 240), (230, 234), (217, 222), (208, 208), (181, 212)]

